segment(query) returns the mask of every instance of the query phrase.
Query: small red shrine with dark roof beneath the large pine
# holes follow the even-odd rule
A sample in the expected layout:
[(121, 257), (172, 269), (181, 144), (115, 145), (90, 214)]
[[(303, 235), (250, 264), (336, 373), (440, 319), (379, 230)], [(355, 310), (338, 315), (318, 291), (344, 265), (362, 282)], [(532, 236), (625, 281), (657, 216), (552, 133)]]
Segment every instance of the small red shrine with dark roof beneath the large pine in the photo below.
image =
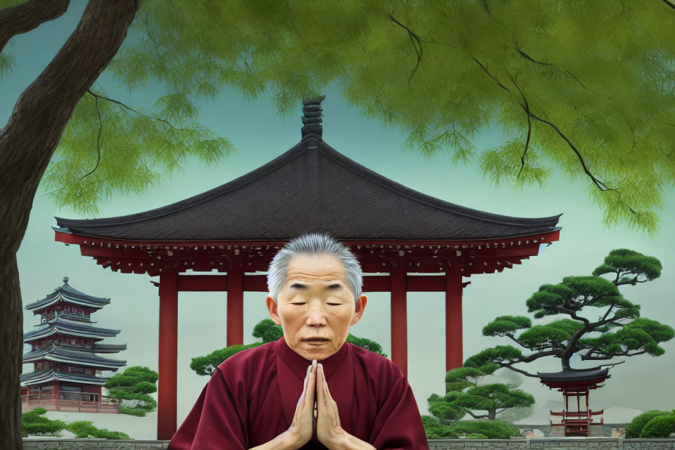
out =
[(591, 411), (589, 391), (605, 385), (605, 380), (611, 376), (608, 371), (609, 368), (593, 367), (553, 373), (538, 372), (541, 383), (563, 392), (565, 399), (563, 411), (549, 411), (555, 419), (560, 419), (560, 422), (551, 419), (551, 428), (564, 427), (565, 436), (588, 436), (591, 425), (603, 425), (603, 418), (598, 421), (593, 420), (593, 416), (600, 416), (605, 410)]

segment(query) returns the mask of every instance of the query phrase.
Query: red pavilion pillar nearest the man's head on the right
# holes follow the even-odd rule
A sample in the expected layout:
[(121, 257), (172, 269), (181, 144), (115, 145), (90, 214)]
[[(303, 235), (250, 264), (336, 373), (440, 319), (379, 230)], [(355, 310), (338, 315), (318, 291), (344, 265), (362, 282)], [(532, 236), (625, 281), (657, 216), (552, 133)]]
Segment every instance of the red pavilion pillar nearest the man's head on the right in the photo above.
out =
[(408, 376), (408, 310), (406, 271), (395, 267), (392, 277), (392, 361)]

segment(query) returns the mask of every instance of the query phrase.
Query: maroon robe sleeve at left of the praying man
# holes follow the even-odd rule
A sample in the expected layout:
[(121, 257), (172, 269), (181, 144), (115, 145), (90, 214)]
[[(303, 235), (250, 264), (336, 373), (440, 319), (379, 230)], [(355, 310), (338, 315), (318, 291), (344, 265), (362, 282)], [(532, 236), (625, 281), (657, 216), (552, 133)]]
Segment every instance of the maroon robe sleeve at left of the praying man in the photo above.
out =
[(167, 450), (247, 450), (248, 401), (239, 383), (216, 369)]

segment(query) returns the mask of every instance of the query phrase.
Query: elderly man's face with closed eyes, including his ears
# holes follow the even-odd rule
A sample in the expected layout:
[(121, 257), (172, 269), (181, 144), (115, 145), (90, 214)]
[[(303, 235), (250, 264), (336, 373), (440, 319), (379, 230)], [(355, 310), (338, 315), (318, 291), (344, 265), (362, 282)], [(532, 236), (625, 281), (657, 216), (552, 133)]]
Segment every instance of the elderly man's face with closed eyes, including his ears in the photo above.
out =
[(365, 295), (354, 302), (345, 268), (333, 255), (297, 255), (288, 262), (277, 302), (267, 297), (272, 320), (283, 328), (288, 347), (319, 361), (338, 352), (349, 326), (361, 319)]

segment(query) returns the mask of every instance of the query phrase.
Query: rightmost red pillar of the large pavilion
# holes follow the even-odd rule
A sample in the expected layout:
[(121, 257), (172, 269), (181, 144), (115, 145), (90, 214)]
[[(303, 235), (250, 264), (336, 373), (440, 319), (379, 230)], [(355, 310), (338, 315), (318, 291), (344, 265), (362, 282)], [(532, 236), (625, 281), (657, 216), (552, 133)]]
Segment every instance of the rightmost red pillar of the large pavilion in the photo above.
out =
[(462, 272), (445, 273), (445, 370), (461, 367), (462, 356)]

